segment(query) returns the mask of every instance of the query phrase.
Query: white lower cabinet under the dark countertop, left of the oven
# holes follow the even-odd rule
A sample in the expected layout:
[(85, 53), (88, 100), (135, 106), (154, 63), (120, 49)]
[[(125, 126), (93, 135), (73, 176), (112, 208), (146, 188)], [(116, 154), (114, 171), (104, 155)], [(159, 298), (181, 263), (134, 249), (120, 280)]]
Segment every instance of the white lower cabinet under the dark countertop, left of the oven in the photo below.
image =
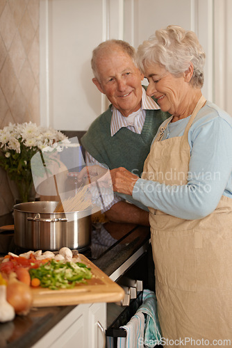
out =
[(106, 303), (78, 305), (33, 348), (105, 347)]

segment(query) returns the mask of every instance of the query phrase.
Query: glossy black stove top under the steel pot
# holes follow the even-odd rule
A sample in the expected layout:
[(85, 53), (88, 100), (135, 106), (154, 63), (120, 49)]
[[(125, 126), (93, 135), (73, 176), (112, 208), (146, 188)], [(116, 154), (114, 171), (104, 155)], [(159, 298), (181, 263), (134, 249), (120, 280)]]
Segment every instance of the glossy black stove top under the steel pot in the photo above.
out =
[[(19, 255), (28, 250), (22, 250), (15, 246), (14, 231), (4, 230), (3, 227), (12, 224), (13, 219), (0, 218), (0, 257), (8, 252)], [(79, 253), (96, 264), (101, 271), (112, 278), (124, 268), (124, 263), (129, 265), (135, 258), (144, 253), (150, 241), (150, 229), (146, 226), (138, 226), (132, 223), (108, 222), (104, 225), (92, 226), (91, 245), (84, 249), (78, 249)], [(115, 278), (112, 278), (115, 280)]]

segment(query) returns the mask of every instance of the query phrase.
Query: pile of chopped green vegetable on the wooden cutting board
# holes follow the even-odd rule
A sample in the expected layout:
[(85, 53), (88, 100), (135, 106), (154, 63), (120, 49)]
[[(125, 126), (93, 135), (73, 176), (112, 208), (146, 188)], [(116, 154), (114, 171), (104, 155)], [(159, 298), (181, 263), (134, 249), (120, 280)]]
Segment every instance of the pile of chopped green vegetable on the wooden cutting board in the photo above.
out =
[(38, 268), (29, 270), (31, 279), (40, 279), (41, 287), (52, 290), (72, 288), (76, 283), (86, 283), (92, 278), (90, 268), (82, 262), (63, 262), (51, 260)]

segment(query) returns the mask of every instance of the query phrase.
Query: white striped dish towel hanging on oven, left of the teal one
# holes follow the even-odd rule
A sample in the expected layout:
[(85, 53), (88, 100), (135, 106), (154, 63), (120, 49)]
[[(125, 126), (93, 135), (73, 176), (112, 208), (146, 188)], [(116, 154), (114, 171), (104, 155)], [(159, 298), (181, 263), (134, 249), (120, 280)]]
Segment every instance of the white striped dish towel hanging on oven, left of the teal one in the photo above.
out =
[(142, 312), (135, 313), (126, 325), (120, 327), (126, 330), (126, 337), (117, 338), (117, 348), (143, 347), (144, 315)]

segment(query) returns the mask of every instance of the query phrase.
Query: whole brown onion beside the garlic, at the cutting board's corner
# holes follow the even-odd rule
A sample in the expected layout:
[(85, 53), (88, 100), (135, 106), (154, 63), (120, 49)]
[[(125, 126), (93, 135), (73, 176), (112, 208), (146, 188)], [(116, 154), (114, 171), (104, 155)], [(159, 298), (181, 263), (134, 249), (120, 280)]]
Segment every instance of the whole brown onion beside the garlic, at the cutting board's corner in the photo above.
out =
[(8, 280), (6, 300), (15, 308), (15, 313), (19, 315), (28, 314), (33, 302), (30, 287), (17, 280), (14, 272), (10, 274)]

